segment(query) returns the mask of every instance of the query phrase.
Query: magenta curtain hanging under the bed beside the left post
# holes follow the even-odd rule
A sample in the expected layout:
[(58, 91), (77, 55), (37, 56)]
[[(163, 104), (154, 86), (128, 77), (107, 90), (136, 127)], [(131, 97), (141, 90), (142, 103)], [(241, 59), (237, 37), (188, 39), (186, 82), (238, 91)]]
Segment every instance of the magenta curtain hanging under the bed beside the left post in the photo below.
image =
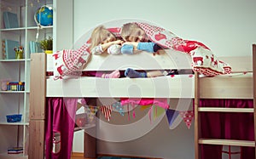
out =
[(78, 99), (46, 100), (45, 158), (70, 159)]

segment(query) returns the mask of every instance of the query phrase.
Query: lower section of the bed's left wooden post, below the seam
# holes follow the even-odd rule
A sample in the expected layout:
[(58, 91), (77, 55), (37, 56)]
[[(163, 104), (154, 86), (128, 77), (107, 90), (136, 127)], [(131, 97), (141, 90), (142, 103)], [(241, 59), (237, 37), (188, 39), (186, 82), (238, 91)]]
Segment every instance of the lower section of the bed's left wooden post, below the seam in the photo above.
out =
[(44, 158), (44, 120), (31, 120), (29, 122), (28, 158)]

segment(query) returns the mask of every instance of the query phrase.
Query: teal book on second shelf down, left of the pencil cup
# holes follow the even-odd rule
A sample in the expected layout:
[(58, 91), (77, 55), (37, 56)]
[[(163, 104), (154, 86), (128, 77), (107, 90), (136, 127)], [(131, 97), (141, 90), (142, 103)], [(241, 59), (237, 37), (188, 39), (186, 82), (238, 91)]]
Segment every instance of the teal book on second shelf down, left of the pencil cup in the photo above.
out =
[(14, 40), (5, 39), (5, 60), (13, 60), (16, 59), (15, 47), (19, 47), (20, 43)]

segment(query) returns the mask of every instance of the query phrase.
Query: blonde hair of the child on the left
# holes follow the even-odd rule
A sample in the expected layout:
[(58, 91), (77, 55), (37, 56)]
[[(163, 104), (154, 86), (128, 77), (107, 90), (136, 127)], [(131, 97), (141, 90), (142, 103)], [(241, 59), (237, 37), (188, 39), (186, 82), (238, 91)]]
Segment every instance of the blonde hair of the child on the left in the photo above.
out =
[[(90, 49), (96, 47), (100, 43), (104, 41), (106, 37), (108, 37), (108, 34), (112, 32), (108, 31), (104, 26), (97, 26), (92, 32), (90, 36)], [(113, 37), (115, 37), (113, 35)]]

